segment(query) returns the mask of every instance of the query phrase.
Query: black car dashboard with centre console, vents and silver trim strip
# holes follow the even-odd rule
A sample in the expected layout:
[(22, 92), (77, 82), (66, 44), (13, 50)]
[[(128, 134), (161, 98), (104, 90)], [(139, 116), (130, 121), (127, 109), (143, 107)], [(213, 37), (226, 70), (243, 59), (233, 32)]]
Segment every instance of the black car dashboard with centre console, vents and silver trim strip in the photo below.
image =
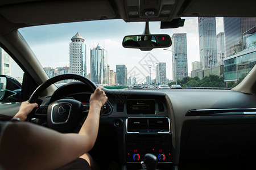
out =
[[(82, 85), (72, 89), (57, 90), (51, 100), (69, 97), (89, 103), (92, 92)], [(122, 169), (142, 169), (147, 153), (156, 156), (158, 169), (232, 169), (243, 156), (254, 158), (254, 95), (232, 90), (104, 90), (108, 101), (90, 151), (103, 169), (111, 162)]]

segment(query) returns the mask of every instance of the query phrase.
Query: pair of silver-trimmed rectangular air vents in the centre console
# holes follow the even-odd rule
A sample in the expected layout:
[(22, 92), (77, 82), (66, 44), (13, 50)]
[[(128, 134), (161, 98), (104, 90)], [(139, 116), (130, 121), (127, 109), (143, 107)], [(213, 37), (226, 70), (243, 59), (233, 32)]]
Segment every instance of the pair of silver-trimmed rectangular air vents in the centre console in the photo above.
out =
[(167, 117), (128, 118), (127, 133), (159, 133), (170, 132)]

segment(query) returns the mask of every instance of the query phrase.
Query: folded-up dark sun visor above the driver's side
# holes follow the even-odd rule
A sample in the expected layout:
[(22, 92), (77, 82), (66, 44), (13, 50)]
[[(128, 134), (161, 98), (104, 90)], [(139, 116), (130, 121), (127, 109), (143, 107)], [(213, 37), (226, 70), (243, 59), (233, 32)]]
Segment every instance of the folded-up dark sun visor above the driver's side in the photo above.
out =
[(113, 19), (108, 1), (44, 1), (0, 7), (0, 14), (12, 23), (27, 25)]

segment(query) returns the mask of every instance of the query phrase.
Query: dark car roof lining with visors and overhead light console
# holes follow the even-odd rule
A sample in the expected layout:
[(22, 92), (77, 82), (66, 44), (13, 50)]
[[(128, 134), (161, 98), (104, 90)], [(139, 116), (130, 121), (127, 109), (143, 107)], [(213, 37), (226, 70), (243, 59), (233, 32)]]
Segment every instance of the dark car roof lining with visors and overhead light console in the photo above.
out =
[[(242, 7), (245, 4), (246, 7)], [(255, 1), (204, 0), (90, 0), (41, 1), (3, 0), (0, 2), (0, 20), (5, 28), (0, 35), (30, 25), (79, 22), (85, 20), (123, 19), (125, 22), (163, 21), (184, 16), (255, 16)], [(145, 16), (148, 9), (154, 16)], [(133, 12), (138, 12), (134, 14)], [(72, 12), (73, 15), (70, 15)]]

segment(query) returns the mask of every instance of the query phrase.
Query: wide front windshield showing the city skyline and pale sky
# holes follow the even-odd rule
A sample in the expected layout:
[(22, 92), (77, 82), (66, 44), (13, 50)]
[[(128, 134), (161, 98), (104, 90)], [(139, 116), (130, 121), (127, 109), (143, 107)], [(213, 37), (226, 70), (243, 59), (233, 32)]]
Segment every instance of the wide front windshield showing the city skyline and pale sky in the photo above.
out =
[[(104, 87), (230, 88), (255, 65), (256, 18), (185, 18), (184, 27), (175, 29), (160, 29), (160, 22), (149, 25), (151, 33), (170, 35), (172, 46), (123, 48), (123, 37), (138, 35), (145, 26), (123, 20), (42, 25), (19, 32), (49, 78), (73, 73)], [(234, 32), (235, 27), (239, 30)]]

